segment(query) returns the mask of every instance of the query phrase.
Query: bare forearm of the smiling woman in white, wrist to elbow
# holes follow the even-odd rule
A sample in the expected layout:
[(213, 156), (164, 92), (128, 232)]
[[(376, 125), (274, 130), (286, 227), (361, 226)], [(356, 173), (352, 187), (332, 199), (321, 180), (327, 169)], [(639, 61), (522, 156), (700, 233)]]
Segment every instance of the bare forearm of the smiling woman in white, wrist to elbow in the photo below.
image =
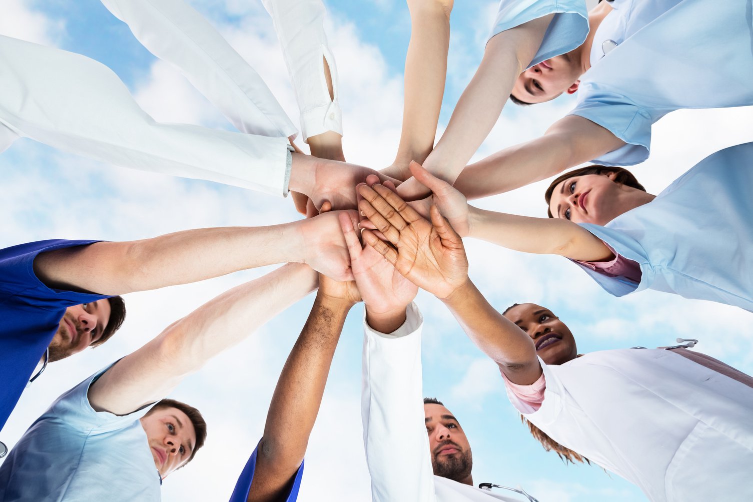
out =
[(470, 279), (442, 300), (484, 354), (515, 383), (532, 384), (541, 375), (533, 341), (495, 310)]

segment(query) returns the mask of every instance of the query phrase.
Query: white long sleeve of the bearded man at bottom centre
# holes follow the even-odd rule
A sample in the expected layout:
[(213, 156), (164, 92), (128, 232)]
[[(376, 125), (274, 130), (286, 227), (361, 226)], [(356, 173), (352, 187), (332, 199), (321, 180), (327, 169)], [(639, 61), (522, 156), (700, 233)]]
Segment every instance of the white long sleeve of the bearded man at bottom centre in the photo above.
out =
[(415, 304), (401, 332), (374, 331), (364, 318), (361, 418), (375, 502), (434, 502), (424, 425), (421, 329)]

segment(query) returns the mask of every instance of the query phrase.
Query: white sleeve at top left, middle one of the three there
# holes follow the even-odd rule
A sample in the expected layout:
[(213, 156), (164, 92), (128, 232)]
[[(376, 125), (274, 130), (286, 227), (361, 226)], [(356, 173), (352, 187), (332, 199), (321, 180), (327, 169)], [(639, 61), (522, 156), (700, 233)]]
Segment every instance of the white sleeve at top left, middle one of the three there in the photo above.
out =
[(175, 66), (238, 130), (294, 136), (258, 73), (184, 0), (101, 0), (160, 60)]

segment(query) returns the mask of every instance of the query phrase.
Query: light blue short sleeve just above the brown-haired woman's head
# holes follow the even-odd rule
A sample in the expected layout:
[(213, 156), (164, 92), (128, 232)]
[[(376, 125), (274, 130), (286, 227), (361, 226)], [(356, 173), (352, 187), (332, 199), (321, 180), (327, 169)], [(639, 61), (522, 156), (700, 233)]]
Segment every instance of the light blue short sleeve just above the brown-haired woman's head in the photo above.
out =
[(618, 93), (603, 90), (599, 84), (581, 82), (578, 105), (568, 115), (578, 115), (599, 124), (626, 142), (593, 159), (606, 166), (633, 166), (648, 158), (651, 148), (651, 124), (656, 121), (647, 110)]

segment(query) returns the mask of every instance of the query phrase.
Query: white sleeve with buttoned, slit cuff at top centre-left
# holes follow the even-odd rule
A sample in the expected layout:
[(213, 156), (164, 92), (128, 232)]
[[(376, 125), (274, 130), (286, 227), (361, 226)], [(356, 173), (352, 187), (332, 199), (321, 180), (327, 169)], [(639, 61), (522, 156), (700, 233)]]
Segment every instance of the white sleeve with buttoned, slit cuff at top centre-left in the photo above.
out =
[[(343, 112), (337, 98), (337, 66), (324, 29), (321, 0), (262, 0), (277, 38), (300, 109), (303, 141), (327, 131), (343, 134)], [(334, 99), (325, 79), (327, 60)]]

